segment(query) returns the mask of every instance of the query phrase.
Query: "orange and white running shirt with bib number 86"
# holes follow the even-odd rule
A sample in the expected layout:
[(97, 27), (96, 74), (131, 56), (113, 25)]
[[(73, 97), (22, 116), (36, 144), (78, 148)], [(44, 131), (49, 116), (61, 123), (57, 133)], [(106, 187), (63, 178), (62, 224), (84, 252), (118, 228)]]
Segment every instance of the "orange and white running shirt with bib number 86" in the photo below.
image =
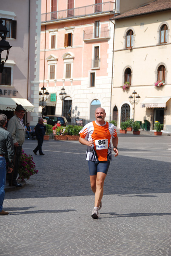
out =
[(89, 122), (79, 132), (80, 137), (85, 140), (93, 140), (93, 145), (87, 147), (86, 160), (89, 161), (109, 161), (111, 160), (111, 137), (117, 137), (116, 127), (108, 122), (104, 125), (97, 124), (96, 121)]

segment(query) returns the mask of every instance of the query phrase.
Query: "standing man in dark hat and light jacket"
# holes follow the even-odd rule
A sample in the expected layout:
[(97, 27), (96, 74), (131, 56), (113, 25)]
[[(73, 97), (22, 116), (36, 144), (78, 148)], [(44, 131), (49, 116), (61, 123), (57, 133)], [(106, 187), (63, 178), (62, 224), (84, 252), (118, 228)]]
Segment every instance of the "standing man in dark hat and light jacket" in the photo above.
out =
[[(17, 103), (16, 103), (17, 104)], [(7, 130), (10, 132), (15, 151), (14, 169), (13, 173), (9, 175), (9, 186), (22, 186), (17, 182), (18, 167), (20, 163), (20, 155), (22, 151), (22, 145), (25, 140), (25, 126), (23, 124), (23, 117), (25, 109), (22, 105), (18, 105), (15, 109), (15, 115), (9, 120)]]

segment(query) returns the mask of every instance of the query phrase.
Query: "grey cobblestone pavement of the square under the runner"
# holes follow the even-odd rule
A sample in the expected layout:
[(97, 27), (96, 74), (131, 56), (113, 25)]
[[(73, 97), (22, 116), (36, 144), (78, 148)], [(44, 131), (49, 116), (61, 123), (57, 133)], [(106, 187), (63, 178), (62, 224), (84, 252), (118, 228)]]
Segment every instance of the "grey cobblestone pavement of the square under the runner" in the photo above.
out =
[(171, 137), (118, 136), (98, 220), (86, 147), (44, 141), (45, 156), (33, 156), (38, 174), (6, 193), (1, 256), (171, 256)]

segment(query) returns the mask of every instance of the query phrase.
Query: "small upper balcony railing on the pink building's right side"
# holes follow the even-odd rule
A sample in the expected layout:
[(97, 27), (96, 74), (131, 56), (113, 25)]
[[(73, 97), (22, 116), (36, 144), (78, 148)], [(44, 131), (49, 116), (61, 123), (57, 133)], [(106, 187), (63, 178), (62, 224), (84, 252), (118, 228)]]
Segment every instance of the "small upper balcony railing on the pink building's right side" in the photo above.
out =
[(83, 31), (83, 40), (91, 40), (93, 38), (110, 38), (110, 29), (108, 26), (102, 27), (98, 32), (96, 29), (85, 29)]

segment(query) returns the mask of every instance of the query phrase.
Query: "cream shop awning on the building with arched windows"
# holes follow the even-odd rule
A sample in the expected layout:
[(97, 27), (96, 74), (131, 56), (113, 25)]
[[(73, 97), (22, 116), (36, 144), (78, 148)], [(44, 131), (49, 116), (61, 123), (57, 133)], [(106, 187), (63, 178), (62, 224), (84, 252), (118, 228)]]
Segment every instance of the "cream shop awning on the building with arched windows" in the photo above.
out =
[(170, 97), (146, 97), (141, 103), (141, 108), (165, 108)]

